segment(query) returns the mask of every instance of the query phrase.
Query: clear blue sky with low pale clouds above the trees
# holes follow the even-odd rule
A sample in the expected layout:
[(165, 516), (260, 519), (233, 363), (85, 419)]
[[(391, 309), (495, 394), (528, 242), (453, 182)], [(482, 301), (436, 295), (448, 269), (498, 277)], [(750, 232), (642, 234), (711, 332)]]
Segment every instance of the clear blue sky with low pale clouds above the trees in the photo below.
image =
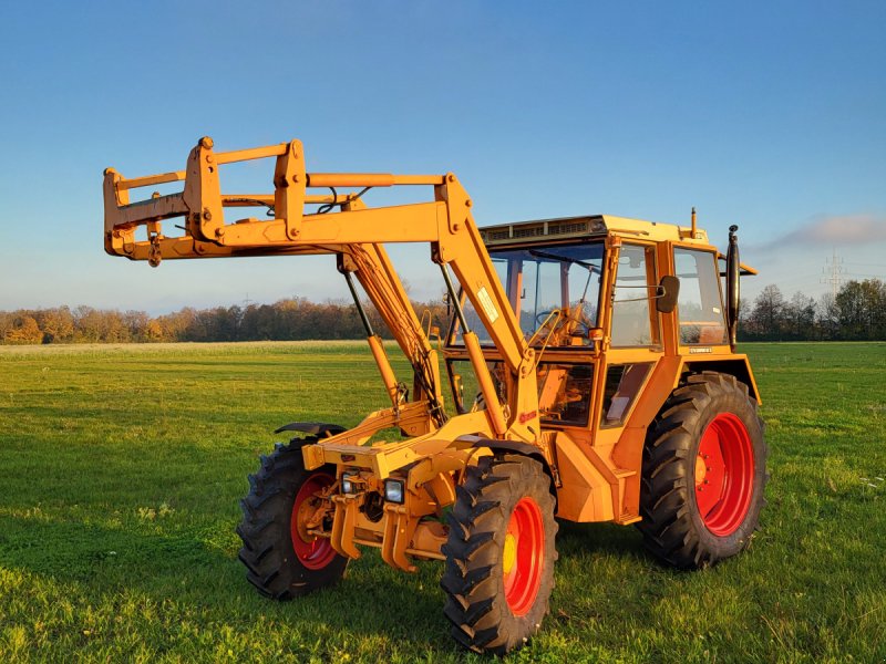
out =
[[(454, 172), (481, 226), (694, 206), (721, 248), (739, 226), (751, 300), (828, 292), (834, 256), (886, 279), (886, 2), (0, 4), (0, 310), (347, 298), (329, 257), (104, 253), (103, 169), (182, 169), (204, 135), (299, 138), (309, 172)], [(442, 292), (429, 256), (392, 250), (415, 299)]]

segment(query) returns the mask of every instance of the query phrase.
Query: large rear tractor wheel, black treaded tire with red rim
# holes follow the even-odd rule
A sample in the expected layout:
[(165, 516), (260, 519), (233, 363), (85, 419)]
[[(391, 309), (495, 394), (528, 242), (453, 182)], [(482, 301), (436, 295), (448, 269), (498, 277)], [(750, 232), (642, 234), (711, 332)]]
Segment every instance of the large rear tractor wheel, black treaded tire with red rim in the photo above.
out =
[(748, 386), (691, 374), (649, 428), (638, 528), (656, 557), (701, 569), (748, 548), (765, 505), (763, 421)]

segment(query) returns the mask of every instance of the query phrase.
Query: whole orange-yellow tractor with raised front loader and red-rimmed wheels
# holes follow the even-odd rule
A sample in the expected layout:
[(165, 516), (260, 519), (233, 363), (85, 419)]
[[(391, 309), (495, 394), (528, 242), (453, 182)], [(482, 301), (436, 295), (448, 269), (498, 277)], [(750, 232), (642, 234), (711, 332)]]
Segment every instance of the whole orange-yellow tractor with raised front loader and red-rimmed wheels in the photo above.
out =
[[(274, 159), (272, 193), (223, 194), (219, 167), (253, 159)], [(130, 199), (176, 181), (178, 193)], [(369, 207), (380, 187), (433, 196)], [(453, 174), (309, 173), (299, 141), (215, 152), (204, 137), (185, 170), (106, 169), (104, 200), (113, 256), (156, 267), (324, 253), (353, 294), (390, 405), (351, 428), (278, 429), (293, 437), (249, 477), (238, 528), (264, 595), (334, 583), (365, 547), (404, 571), (440, 560), (455, 640), (503, 654), (548, 612), (556, 519), (635, 523), (681, 569), (748, 547), (766, 445), (751, 366), (734, 352), (739, 278), (753, 273), (735, 227), (725, 256), (694, 212), (689, 227), (598, 215), (478, 228)], [(268, 214), (226, 218), (259, 206)], [(430, 245), (452, 311), (443, 334), (416, 315), (391, 242)], [(358, 282), (409, 360), (408, 381)], [(379, 442), (385, 429), (400, 436)]]

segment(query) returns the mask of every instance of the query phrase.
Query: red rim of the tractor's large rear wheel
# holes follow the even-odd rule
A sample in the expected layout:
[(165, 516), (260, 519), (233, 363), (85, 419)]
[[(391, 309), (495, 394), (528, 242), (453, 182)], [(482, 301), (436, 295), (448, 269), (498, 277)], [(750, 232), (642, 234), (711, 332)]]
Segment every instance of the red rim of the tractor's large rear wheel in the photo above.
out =
[(704, 429), (696, 457), (696, 505), (708, 530), (725, 537), (739, 529), (753, 484), (751, 436), (736, 415), (720, 413)]

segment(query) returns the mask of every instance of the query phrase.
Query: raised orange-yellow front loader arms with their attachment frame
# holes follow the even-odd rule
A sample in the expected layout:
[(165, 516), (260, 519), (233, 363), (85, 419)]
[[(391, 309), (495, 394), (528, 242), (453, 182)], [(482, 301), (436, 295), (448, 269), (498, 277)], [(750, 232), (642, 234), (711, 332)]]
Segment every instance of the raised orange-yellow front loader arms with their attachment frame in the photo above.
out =
[[(219, 166), (261, 158), (276, 159), (272, 194), (223, 194)], [(131, 201), (130, 191), (184, 181), (181, 194), (155, 193)], [(369, 208), (363, 194), (375, 187), (431, 186), (433, 200)], [(358, 189), (340, 193), (340, 189)], [(312, 190), (328, 189), (330, 194)], [(353, 273), (391, 329), (415, 373), (413, 397), (427, 400), (436, 426), (445, 422), (435, 351), (382, 245), (429, 242), (434, 262), (450, 271), (486, 328), (507, 369), (507, 398), (499, 403), (477, 335), (462, 325), (465, 347), (486, 404), (486, 430), (494, 438), (535, 443), (539, 438), (535, 357), (498, 281), (471, 214), (472, 201), (453, 174), (390, 175), (308, 173), (299, 141), (220, 153), (202, 138), (185, 170), (126, 179), (109, 168), (104, 176), (105, 251), (157, 266), (163, 259), (235, 256), (340, 255), (339, 269)], [(271, 219), (247, 217), (226, 221), (226, 208), (272, 208)], [(306, 214), (306, 206), (320, 206)], [(181, 232), (167, 235), (166, 219), (183, 218)], [(145, 229), (144, 237), (136, 237)], [(457, 298), (452, 301), (456, 303)], [(359, 305), (359, 301), (358, 301)], [(463, 317), (462, 317), (463, 318)], [(369, 332), (369, 331), (368, 331)], [(398, 386), (378, 338), (370, 345), (385, 381), (392, 406)], [(387, 365), (387, 367), (385, 367)], [(418, 394), (415, 394), (418, 393)]]

